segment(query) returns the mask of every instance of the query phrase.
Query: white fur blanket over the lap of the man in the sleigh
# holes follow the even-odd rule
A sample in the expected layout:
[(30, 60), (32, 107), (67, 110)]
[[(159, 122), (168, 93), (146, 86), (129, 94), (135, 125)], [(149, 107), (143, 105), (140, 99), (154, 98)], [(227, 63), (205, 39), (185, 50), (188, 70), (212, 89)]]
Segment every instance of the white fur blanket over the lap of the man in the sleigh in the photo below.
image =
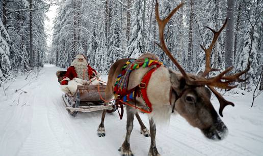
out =
[[(100, 80), (100, 78), (98, 79)], [(106, 85), (106, 83), (99, 80), (92, 78), (90, 81), (86, 81), (80, 78), (73, 78), (68, 81), (68, 85), (61, 85), (60, 88), (63, 92), (74, 93), (76, 92), (77, 85)]]

